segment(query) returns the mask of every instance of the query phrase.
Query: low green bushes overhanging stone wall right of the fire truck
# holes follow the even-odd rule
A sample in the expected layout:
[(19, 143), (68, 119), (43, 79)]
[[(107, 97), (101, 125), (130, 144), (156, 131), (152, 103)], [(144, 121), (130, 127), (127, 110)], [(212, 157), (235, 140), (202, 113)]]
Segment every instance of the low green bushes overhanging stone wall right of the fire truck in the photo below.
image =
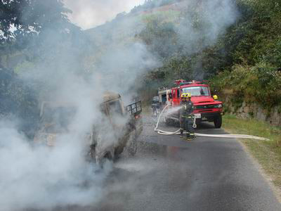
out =
[(211, 88), (223, 95), (231, 90), (235, 101), (255, 101), (270, 110), (281, 103), (281, 72), (268, 63), (253, 67), (235, 65), (233, 71), (225, 71), (211, 79)]

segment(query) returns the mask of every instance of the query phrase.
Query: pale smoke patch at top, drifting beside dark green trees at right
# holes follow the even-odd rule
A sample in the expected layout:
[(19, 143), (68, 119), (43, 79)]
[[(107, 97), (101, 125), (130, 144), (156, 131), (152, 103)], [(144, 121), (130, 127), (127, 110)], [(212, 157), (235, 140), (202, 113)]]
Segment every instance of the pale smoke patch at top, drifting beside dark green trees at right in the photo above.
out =
[(183, 1), (178, 6), (185, 8), (185, 15), (176, 32), (184, 46), (183, 52), (188, 54), (215, 44), (238, 15), (232, 0)]

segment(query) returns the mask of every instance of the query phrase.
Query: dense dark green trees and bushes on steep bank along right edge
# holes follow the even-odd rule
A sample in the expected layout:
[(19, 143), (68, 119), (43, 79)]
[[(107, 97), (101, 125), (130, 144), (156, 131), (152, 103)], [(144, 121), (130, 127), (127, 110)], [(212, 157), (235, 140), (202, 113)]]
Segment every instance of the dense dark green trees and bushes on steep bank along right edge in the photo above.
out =
[[(281, 102), (281, 1), (242, 1), (242, 16), (218, 45), (229, 62), (211, 79), (216, 89), (270, 110)], [(230, 44), (230, 45), (228, 45)]]

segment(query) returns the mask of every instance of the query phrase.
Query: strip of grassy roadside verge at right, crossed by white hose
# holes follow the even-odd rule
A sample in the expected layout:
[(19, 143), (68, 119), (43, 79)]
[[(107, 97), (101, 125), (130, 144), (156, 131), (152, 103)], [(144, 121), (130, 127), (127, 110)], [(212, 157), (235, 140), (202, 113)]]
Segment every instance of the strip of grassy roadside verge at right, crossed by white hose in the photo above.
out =
[(273, 184), (281, 188), (281, 128), (258, 120), (242, 120), (234, 115), (223, 117), (223, 128), (232, 134), (249, 134), (270, 139), (270, 141), (251, 139), (241, 141), (272, 179)]

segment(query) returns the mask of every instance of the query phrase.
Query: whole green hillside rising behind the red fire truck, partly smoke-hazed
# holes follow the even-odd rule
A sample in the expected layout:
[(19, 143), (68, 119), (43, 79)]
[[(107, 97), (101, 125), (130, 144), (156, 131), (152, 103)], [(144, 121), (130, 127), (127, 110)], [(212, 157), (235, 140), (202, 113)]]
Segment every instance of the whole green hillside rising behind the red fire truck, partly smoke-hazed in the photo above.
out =
[(219, 21), (223, 15), (216, 10), (210, 15), (206, 7), (195, 1), (172, 2), (124, 14), (87, 33), (107, 34), (110, 39), (103, 41), (109, 46), (144, 42), (162, 61), (145, 75), (145, 89), (169, 86), (178, 78), (209, 79), (219, 94), (228, 90), (238, 104), (255, 101), (270, 111), (281, 102), (280, 2), (236, 1), (235, 11), (223, 7), (230, 12), (224, 23)]

